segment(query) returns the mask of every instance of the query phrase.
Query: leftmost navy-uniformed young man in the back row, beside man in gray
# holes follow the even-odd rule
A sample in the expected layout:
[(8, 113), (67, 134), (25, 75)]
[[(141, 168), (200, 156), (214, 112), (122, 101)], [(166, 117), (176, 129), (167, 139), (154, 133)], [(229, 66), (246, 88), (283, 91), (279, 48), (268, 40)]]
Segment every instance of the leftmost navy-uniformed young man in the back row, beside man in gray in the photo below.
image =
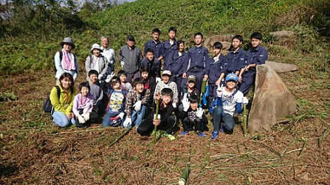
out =
[(161, 56), (161, 42), (159, 41), (160, 30), (154, 28), (152, 30), (152, 39), (145, 43), (145, 56), (147, 55), (147, 49), (152, 49), (154, 51), (154, 56), (161, 61), (163, 57)]

